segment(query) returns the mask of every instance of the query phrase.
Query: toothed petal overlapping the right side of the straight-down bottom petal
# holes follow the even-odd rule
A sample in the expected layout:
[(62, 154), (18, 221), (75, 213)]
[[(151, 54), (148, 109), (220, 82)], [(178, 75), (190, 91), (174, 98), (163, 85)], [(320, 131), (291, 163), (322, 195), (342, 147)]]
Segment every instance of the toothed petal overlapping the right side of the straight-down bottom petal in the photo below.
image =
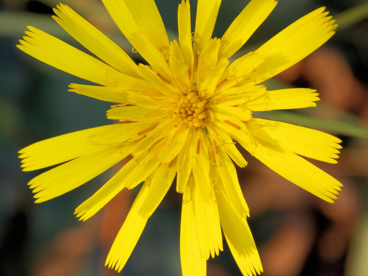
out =
[(211, 187), (211, 198), (205, 201), (199, 187), (202, 184), (195, 183), (192, 201), (194, 201), (195, 228), (199, 250), (201, 257), (208, 260), (210, 255), (215, 258), (215, 254), (219, 255), (219, 250), (223, 251), (222, 233), (213, 187)]

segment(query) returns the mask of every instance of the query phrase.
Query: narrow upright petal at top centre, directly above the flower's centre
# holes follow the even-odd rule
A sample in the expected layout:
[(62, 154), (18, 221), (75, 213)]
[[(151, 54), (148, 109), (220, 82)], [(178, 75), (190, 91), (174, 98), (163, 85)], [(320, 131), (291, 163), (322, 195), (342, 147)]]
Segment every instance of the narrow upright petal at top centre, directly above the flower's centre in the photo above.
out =
[(193, 68), (193, 47), (192, 47), (192, 31), (190, 24), (190, 4), (189, 0), (181, 0), (178, 8), (178, 33), (180, 49), (183, 53), (185, 64), (190, 70)]

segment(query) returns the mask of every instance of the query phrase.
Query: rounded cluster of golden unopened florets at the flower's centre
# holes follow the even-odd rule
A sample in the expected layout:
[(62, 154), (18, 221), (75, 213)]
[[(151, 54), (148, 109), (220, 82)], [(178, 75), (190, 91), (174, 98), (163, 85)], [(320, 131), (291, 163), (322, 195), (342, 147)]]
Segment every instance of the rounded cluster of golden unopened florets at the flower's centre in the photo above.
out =
[(203, 126), (206, 117), (206, 100), (201, 99), (197, 92), (183, 95), (173, 114), (173, 118), (184, 121), (190, 127)]

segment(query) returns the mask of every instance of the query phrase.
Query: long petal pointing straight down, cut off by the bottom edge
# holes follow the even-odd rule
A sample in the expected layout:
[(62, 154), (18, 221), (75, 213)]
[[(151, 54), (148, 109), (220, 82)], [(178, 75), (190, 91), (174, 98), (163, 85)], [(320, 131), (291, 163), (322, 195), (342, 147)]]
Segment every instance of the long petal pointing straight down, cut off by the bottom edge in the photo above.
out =
[[(193, 186), (193, 185), (192, 185)], [(180, 260), (183, 276), (206, 276), (206, 258), (202, 257), (198, 247), (194, 217), (194, 202), (191, 187), (188, 185), (183, 194), (183, 207), (180, 222)]]

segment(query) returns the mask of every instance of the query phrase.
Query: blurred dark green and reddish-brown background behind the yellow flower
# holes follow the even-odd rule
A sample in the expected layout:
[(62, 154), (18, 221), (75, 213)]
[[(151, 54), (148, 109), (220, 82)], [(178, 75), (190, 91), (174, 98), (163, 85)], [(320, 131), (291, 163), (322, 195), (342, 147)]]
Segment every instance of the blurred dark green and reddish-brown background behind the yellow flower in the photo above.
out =
[[(179, 2), (156, 0), (170, 39), (176, 38)], [(221, 37), (248, 2), (224, 0), (213, 36)], [(1, 276), (117, 275), (103, 265), (138, 190), (122, 191), (86, 222), (75, 218), (74, 209), (104, 184), (114, 169), (61, 197), (33, 203), (26, 184), (40, 171), (21, 172), (17, 151), (42, 139), (113, 123), (105, 116), (110, 103), (67, 91), (70, 83), (84, 83), (82, 80), (15, 47), (26, 25), (31, 25), (82, 49), (52, 20), (52, 7), (58, 3), (0, 1)], [(141, 62), (99, 0), (63, 3), (131, 53), (137, 63)], [(194, 25), (196, 1), (191, 1), (191, 6)], [(265, 276), (368, 275), (367, 2), (280, 0), (238, 56), (255, 50), (320, 6), (327, 6), (330, 14), (336, 16), (340, 24), (337, 33), (266, 86), (272, 90), (310, 87), (318, 90), (322, 100), (316, 108), (260, 116), (314, 127), (342, 138), (344, 149), (339, 164), (312, 162), (340, 180), (344, 187), (335, 204), (326, 203), (244, 153), (249, 164), (238, 175), (251, 210), (249, 223)], [(148, 221), (120, 275), (181, 275), (180, 210), (181, 195), (171, 189)], [(225, 240), (224, 252), (208, 261), (208, 275), (241, 275)]]

